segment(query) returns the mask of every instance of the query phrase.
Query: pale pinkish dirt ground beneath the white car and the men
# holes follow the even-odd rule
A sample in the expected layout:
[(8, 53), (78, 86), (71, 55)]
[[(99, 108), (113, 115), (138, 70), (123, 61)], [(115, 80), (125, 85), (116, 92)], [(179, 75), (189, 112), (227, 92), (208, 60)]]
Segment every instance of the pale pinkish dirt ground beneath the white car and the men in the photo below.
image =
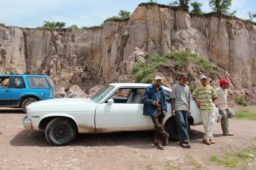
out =
[[(151, 145), (154, 131), (113, 134), (79, 134), (64, 147), (53, 147), (44, 131), (24, 130), (20, 109), (0, 108), (0, 170), (221, 170), (229, 168), (211, 161), (211, 156), (256, 147), (256, 122), (230, 119), (235, 136), (223, 136), (215, 124), (216, 144), (202, 142), (202, 125), (191, 127), (192, 148), (169, 142), (165, 150)], [(256, 170), (256, 157), (244, 169)]]

